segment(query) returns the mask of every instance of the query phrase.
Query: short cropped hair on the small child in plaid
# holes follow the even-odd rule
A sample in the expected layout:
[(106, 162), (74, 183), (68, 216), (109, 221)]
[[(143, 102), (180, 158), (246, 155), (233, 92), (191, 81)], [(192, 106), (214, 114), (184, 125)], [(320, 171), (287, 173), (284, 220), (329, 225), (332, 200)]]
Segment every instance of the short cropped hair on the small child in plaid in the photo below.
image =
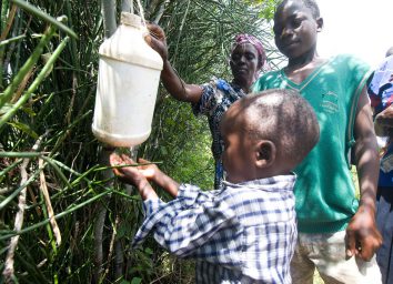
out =
[(271, 140), (289, 163), (296, 165), (320, 139), (313, 108), (298, 91), (271, 89), (240, 101), (242, 131), (252, 139)]

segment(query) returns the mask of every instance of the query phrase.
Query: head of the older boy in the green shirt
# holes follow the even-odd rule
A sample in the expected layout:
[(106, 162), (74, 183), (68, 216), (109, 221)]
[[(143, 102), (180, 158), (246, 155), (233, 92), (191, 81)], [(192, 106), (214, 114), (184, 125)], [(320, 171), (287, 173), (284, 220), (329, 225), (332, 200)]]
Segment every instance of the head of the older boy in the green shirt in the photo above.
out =
[(289, 59), (315, 52), (316, 33), (322, 27), (314, 0), (283, 0), (274, 13), (275, 44)]

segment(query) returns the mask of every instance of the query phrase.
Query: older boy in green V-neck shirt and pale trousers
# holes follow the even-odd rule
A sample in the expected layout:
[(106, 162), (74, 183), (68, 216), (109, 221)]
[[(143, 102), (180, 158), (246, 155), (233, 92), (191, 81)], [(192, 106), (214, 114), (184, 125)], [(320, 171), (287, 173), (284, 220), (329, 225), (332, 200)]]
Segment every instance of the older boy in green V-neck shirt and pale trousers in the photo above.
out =
[[(315, 1), (282, 1), (273, 30), (288, 65), (254, 85), (254, 91), (298, 90), (313, 106), (321, 129), (319, 143), (295, 169), (299, 239), (292, 280), (312, 283), (316, 266), (325, 283), (376, 284), (381, 274), (372, 256), (381, 245), (375, 226), (379, 158), (365, 88), (369, 67), (350, 55), (320, 58), (316, 36), (322, 27)], [(351, 148), (360, 204), (350, 171)]]

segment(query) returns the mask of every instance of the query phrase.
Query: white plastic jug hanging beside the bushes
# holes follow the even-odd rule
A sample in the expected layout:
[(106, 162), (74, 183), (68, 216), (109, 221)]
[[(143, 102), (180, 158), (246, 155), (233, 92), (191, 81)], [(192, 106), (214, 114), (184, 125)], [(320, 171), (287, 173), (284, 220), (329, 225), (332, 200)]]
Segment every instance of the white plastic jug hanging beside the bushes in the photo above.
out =
[(137, 14), (122, 12), (121, 24), (100, 47), (92, 131), (113, 146), (133, 146), (151, 132), (162, 59), (144, 41)]

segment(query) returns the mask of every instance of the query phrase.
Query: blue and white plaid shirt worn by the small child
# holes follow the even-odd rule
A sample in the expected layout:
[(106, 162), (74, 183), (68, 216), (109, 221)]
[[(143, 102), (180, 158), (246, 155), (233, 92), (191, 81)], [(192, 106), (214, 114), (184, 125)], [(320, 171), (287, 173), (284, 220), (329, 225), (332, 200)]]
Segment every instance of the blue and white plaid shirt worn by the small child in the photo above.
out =
[(196, 258), (196, 283), (291, 283), (294, 182), (280, 175), (208, 192), (182, 184), (169, 203), (144, 201), (134, 245), (153, 231), (170, 252)]

